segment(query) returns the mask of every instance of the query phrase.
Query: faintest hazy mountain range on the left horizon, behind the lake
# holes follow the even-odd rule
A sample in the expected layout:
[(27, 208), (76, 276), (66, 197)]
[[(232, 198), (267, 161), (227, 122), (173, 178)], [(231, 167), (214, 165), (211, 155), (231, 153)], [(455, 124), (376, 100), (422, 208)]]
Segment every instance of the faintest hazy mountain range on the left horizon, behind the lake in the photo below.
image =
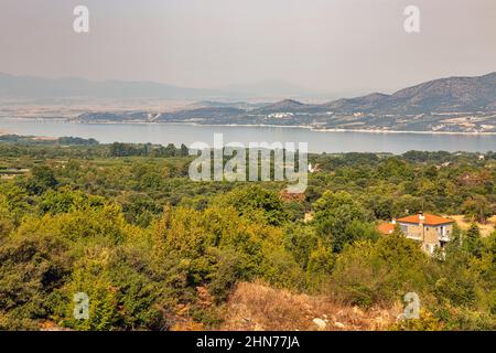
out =
[(89, 81), (84, 78), (41, 78), (0, 73), (0, 99), (20, 98), (36, 101), (53, 99), (248, 99), (273, 97), (324, 97), (284, 82), (233, 85), (219, 89), (186, 88), (148, 81)]

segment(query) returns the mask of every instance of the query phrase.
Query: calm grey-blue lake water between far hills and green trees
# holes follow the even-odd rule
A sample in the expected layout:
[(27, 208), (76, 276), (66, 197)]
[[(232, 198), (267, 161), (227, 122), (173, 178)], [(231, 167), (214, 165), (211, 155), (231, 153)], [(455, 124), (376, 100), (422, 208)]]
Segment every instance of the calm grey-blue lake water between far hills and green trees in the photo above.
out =
[(179, 124), (68, 124), (57, 121), (0, 119), (0, 131), (47, 137), (94, 138), (109, 142), (185, 143), (203, 141), (213, 146), (214, 133), (224, 142), (308, 142), (310, 152), (391, 152), (496, 150), (496, 136), (441, 133), (385, 133), (312, 131), (289, 127), (194, 126)]

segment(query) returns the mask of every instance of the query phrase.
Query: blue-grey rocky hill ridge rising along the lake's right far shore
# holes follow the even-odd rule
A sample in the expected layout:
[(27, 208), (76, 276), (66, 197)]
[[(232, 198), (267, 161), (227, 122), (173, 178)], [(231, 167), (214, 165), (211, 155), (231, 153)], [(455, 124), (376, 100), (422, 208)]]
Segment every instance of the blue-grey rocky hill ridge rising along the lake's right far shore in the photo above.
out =
[(183, 109), (155, 121), (204, 125), (303, 126), (315, 129), (496, 132), (496, 73), (438, 78), (390, 95), (324, 104), (283, 99), (251, 110)]

